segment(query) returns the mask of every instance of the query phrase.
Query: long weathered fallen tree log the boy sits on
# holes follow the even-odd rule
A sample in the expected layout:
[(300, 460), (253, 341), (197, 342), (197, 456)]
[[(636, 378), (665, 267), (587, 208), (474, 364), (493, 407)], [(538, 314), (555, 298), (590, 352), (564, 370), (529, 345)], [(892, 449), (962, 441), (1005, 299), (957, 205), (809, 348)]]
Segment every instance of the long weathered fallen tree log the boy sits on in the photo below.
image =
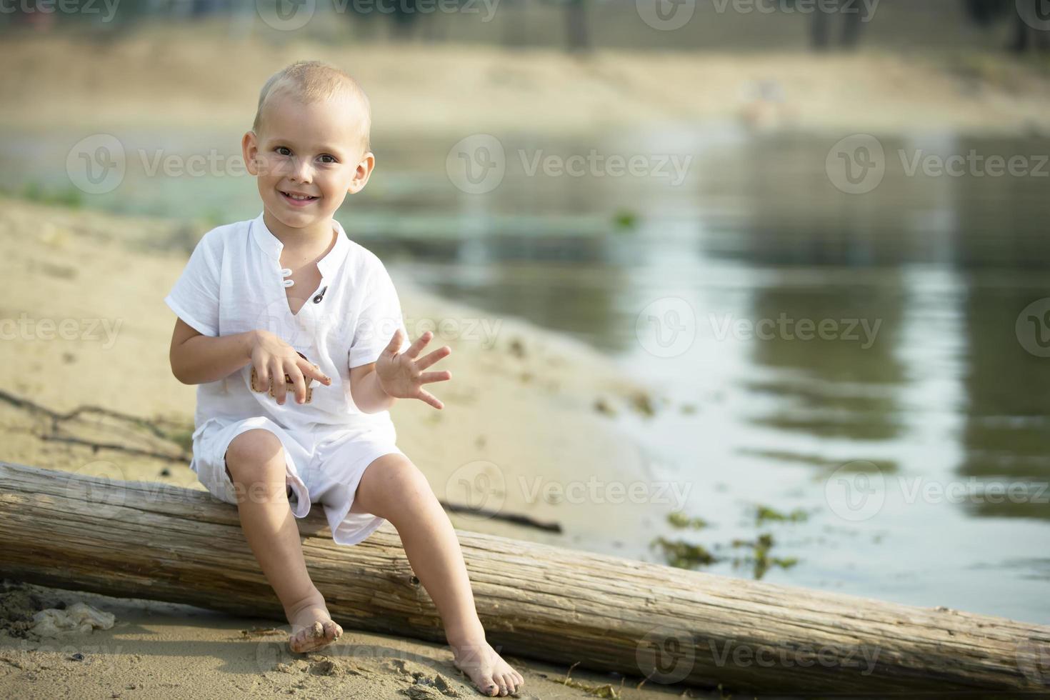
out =
[[(444, 643), (388, 523), (354, 547), (318, 511), (298, 523), (341, 624)], [(1050, 691), (1047, 627), (458, 535), (504, 653), (777, 694)], [(236, 508), (198, 490), (0, 462), (0, 553), (19, 580), (285, 621)]]

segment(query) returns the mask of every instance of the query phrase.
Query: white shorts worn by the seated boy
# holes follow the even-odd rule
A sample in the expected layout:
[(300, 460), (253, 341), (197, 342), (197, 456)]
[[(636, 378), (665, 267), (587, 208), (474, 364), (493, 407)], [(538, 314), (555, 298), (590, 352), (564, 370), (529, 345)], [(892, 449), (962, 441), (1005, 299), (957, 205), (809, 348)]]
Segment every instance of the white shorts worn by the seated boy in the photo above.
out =
[(384, 454), (404, 454), (394, 444), (393, 425), (346, 428), (315, 424), (307, 432), (288, 430), (262, 416), (240, 421), (208, 419), (193, 431), (190, 468), (216, 499), (236, 505), (236, 491), (226, 471), (226, 450), (238, 434), (257, 428), (277, 436), (285, 448), (285, 483), (296, 517), (306, 517), (310, 504), (321, 504), (332, 538), (339, 545), (356, 545), (383, 524), (381, 517), (351, 513), (350, 509), (368, 466)]

